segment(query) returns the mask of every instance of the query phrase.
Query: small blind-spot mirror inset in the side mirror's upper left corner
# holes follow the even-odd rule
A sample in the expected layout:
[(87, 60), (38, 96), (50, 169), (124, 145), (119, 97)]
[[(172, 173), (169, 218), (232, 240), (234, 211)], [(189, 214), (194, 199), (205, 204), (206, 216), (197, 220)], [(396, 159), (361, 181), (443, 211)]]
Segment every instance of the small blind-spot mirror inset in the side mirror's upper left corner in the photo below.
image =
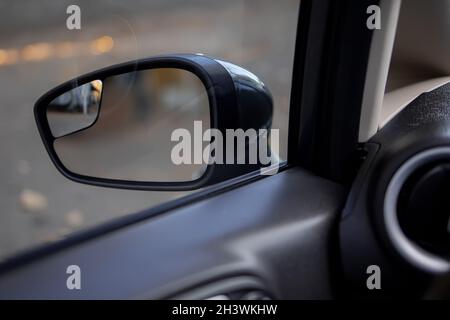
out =
[(56, 97), (47, 107), (47, 120), (55, 138), (91, 126), (97, 119), (102, 82), (94, 80)]

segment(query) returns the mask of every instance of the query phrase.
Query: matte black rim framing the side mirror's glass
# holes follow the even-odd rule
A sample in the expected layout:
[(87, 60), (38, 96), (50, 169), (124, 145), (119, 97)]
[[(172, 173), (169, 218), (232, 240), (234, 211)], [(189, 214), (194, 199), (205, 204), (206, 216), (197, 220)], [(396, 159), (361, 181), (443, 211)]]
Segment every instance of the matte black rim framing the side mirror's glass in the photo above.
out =
[(57, 138), (53, 137), (47, 120), (46, 110), (48, 104), (64, 92), (92, 80), (104, 81), (111, 76), (156, 68), (177, 68), (195, 74), (202, 81), (208, 94), (210, 127), (219, 129), (222, 133), (225, 133), (226, 129), (238, 129), (239, 122), (237, 119), (239, 119), (239, 108), (234, 81), (230, 73), (216, 60), (200, 54), (174, 54), (113, 65), (59, 85), (39, 98), (34, 106), (34, 116), (44, 146), (53, 164), (62, 175), (79, 183), (101, 187), (154, 191), (187, 191), (236, 177), (242, 173), (242, 169), (232, 170), (233, 168), (230, 168), (230, 166), (225, 167), (225, 165), (210, 164), (207, 166), (205, 173), (196, 180), (144, 182), (85, 176), (72, 172), (63, 165), (53, 145)]

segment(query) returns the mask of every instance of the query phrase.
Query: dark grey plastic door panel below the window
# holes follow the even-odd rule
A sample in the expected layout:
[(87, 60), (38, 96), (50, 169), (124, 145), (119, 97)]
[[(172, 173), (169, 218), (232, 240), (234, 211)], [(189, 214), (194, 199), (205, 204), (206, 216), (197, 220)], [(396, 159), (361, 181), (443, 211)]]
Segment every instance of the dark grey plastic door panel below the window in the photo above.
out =
[[(276, 298), (329, 298), (344, 200), (339, 185), (289, 169), (15, 268), (0, 277), (0, 298), (189, 296), (236, 276)], [(72, 264), (81, 290), (66, 287)]]

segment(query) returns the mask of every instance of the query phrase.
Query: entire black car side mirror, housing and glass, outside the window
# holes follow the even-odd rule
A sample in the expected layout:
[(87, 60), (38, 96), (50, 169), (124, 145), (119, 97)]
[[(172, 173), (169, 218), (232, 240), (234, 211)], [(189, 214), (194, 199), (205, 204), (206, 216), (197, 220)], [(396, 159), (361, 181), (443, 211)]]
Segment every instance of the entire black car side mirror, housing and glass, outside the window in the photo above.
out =
[(198, 189), (273, 167), (272, 112), (271, 94), (255, 75), (194, 54), (94, 71), (46, 93), (34, 108), (64, 176), (139, 190)]

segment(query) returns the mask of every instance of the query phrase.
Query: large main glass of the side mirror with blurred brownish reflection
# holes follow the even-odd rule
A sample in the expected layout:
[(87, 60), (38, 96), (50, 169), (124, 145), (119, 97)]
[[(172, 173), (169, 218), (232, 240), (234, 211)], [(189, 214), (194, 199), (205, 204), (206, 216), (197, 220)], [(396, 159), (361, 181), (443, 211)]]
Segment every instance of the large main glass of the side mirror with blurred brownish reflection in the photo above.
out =
[(71, 104), (64, 100), (69, 100), (67, 93), (54, 100), (58, 104), (52, 102), (56, 106), (49, 105), (47, 115), (57, 138), (54, 148), (67, 169), (91, 177), (141, 182), (192, 181), (203, 175), (206, 164), (177, 165), (171, 158), (178, 143), (171, 140), (174, 130), (193, 133), (194, 121), (201, 121), (203, 130), (210, 127), (208, 94), (195, 74), (159, 68), (105, 78), (95, 82), (96, 88), (99, 83), (96, 104), (90, 93), (94, 84), (72, 90), (89, 97), (85, 103), (90, 111), (81, 107), (84, 104), (76, 111), (69, 108)]

